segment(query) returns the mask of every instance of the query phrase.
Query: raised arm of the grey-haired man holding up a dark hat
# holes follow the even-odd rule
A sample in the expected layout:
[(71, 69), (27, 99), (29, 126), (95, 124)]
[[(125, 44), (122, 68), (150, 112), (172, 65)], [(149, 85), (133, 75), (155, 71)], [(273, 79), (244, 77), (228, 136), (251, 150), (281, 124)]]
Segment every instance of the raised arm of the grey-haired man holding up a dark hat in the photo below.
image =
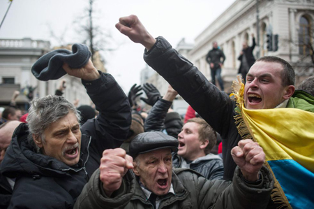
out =
[(130, 105), (124, 91), (112, 75), (97, 71), (91, 60), (82, 69), (70, 69), (67, 64), (63, 69), (69, 75), (82, 78), (87, 94), (99, 111), (96, 119), (82, 125), (82, 134), (91, 136), (91, 146), (99, 157), (103, 150), (119, 147), (126, 139), (131, 122)]

